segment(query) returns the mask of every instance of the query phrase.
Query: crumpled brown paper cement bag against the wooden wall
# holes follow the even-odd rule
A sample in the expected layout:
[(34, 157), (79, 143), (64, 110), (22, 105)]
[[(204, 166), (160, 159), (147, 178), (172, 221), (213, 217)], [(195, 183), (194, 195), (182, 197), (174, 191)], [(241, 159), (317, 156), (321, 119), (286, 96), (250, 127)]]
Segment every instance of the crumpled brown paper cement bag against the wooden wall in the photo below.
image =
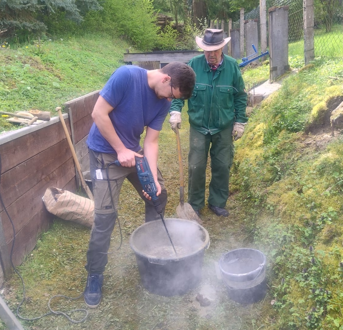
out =
[(67, 190), (49, 187), (45, 190), (43, 202), (55, 216), (92, 228), (94, 201)]

